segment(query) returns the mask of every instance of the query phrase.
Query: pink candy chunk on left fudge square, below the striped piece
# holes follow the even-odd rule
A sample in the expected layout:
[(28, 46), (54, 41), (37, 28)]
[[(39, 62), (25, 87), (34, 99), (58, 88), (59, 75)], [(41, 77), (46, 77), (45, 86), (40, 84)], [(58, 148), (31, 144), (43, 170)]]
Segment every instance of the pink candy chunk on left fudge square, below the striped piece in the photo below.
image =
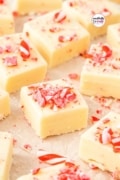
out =
[(12, 66), (17, 66), (17, 57), (16, 56), (12, 56), (12, 57), (5, 57), (4, 58), (4, 64), (8, 67), (12, 67)]

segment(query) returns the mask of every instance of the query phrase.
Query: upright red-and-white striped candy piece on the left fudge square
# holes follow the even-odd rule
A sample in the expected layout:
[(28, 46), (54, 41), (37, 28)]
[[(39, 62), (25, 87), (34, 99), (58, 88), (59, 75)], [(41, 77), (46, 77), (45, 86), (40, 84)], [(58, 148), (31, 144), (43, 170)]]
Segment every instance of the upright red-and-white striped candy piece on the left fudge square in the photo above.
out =
[(22, 56), (23, 60), (26, 60), (30, 57), (30, 47), (28, 43), (24, 40), (20, 42), (20, 55)]

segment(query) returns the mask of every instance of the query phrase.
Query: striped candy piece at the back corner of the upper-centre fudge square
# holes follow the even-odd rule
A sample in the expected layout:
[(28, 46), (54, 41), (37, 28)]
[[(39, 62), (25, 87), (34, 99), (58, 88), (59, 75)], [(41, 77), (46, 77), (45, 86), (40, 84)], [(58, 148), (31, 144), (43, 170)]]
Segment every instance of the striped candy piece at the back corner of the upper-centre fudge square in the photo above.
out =
[(66, 18), (67, 16), (63, 11), (58, 11), (54, 14), (53, 20), (57, 23), (63, 23)]

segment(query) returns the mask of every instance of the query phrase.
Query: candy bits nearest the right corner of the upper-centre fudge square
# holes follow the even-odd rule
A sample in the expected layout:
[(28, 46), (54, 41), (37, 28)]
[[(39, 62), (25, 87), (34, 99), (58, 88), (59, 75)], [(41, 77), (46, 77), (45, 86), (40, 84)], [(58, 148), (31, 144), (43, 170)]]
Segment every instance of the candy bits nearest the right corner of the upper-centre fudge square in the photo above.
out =
[(72, 35), (66, 35), (66, 36), (59, 36), (58, 40), (59, 42), (69, 42), (69, 41), (73, 41), (77, 38), (76, 34), (72, 34)]

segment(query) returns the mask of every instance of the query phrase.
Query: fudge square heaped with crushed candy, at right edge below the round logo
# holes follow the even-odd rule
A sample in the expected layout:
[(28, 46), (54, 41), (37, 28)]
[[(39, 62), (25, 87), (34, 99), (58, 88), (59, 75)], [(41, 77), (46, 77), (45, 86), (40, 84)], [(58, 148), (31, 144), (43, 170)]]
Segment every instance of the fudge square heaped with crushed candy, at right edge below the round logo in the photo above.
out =
[(92, 44), (81, 71), (80, 92), (120, 98), (120, 53), (108, 44)]

